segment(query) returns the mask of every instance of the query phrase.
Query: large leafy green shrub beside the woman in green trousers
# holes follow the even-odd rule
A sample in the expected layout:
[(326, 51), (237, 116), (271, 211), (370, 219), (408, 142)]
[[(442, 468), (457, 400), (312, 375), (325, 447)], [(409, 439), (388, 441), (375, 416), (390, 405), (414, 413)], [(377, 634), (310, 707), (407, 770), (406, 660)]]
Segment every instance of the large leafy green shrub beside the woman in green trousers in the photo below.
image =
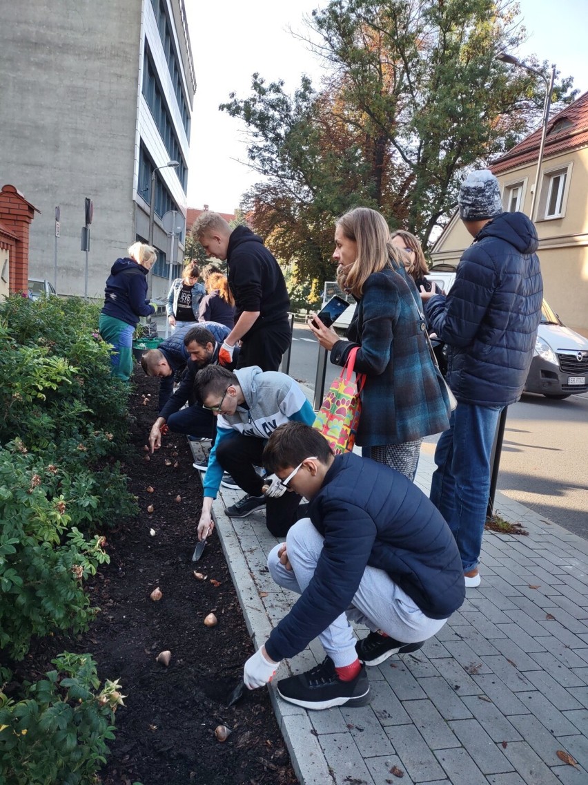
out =
[(23, 451), (88, 485), (93, 516), (72, 520), (94, 530), (136, 513), (117, 462), (128, 442), (128, 385), (111, 377), (98, 313), (80, 298), (0, 305), (0, 445), (18, 434)]

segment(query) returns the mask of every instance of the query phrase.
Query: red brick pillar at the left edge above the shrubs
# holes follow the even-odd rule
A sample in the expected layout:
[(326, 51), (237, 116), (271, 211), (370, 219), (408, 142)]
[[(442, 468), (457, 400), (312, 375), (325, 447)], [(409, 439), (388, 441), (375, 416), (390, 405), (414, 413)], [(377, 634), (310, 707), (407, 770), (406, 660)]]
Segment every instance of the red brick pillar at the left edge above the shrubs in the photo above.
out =
[(29, 229), (35, 212), (39, 212), (13, 185), (4, 185), (0, 191), (0, 224), (6, 235), (13, 239), (10, 254), (10, 292), (27, 291)]

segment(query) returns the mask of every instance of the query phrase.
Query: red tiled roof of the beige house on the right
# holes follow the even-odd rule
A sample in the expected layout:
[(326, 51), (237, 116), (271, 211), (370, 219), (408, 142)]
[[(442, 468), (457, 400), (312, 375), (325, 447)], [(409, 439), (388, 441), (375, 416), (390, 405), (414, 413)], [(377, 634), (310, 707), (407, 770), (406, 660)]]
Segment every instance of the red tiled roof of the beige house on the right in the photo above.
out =
[[(541, 126), (530, 136), (519, 142), (490, 165), (494, 174), (503, 174), (517, 166), (537, 160), (541, 143)], [(588, 146), (588, 93), (584, 93), (573, 104), (557, 112), (547, 126), (543, 158), (572, 152)]]

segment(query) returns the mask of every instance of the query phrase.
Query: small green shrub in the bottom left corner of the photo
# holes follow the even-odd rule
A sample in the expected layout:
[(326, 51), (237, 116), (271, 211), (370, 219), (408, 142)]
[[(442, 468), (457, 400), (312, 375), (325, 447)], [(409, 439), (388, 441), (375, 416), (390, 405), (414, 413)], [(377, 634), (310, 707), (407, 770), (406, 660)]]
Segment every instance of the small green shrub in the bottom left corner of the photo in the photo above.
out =
[(114, 739), (114, 711), (124, 705), (118, 681), (100, 690), (91, 655), (68, 652), (56, 670), (25, 685), (23, 699), (0, 688), (0, 772), (6, 785), (90, 785)]

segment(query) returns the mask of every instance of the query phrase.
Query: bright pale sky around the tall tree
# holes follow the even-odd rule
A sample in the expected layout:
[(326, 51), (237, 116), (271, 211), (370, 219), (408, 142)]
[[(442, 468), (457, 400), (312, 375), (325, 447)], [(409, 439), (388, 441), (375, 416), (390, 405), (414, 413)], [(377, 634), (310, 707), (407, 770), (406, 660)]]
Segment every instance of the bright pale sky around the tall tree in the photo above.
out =
[[(192, 114), (189, 207), (232, 213), (241, 195), (260, 176), (246, 166), (245, 126), (219, 104), (251, 93), (251, 77), (283, 79), (292, 93), (303, 73), (318, 86), (321, 61), (298, 35), (309, 35), (304, 17), (325, 0), (224, 0), (222, 5), (185, 0), (198, 88)], [(586, 0), (519, 0), (528, 39), (513, 54), (556, 64), (572, 75), (580, 93), (588, 90)]]

